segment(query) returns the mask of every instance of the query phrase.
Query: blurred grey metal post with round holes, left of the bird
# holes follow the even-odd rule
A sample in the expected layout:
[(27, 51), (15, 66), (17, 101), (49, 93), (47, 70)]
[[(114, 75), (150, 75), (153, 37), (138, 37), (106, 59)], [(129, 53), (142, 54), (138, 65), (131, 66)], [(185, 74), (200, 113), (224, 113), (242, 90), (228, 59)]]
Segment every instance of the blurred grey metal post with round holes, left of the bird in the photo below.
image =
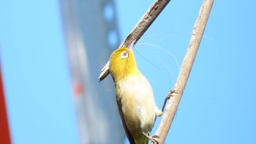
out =
[(97, 84), (100, 69), (120, 43), (115, 4), (61, 0), (61, 12), (81, 143), (124, 143), (113, 82)]

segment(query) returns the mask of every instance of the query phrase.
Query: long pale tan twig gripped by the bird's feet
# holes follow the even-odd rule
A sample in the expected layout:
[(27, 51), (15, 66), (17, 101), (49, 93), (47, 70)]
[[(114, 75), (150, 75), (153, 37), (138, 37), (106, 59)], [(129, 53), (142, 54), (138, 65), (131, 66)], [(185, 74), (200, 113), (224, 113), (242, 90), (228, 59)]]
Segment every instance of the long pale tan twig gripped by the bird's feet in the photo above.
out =
[(170, 125), (173, 122), (173, 118), (174, 118), (174, 115), (176, 114), (178, 104), (181, 100), (181, 96), (187, 84), (187, 80), (189, 78), (192, 65), (195, 61), (195, 56), (197, 54), (197, 50), (199, 48), (201, 39), (203, 37), (203, 32), (206, 29), (206, 23), (210, 15), (211, 7), (213, 3), (214, 3), (214, 0), (203, 1), (198, 18), (195, 22), (194, 29), (192, 31), (192, 37), (189, 42), (189, 47), (187, 48), (187, 54), (181, 65), (181, 71), (178, 75), (176, 85), (173, 88), (176, 91), (176, 93), (173, 93), (173, 96), (170, 97), (170, 100), (165, 110), (165, 114), (163, 115), (162, 121), (155, 134), (158, 136), (157, 141), (159, 142), (159, 144), (162, 144), (165, 142), (165, 138), (167, 137), (167, 133), (170, 129)]

